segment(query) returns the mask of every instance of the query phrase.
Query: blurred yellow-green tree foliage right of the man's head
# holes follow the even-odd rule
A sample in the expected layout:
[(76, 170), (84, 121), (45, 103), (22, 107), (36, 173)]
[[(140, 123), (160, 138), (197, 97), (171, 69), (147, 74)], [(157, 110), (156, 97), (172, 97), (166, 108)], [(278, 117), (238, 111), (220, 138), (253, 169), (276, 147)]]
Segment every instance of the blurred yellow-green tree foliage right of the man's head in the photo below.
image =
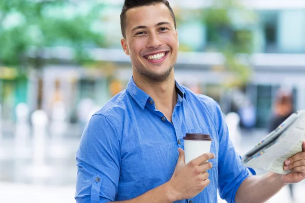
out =
[[(212, 6), (204, 9), (175, 12), (177, 24), (200, 19), (206, 32), (206, 44), (201, 51), (224, 54), (226, 63), (213, 70), (229, 71), (225, 87), (243, 86), (249, 81), (252, 74), (249, 58), (254, 50), (252, 26), (257, 22), (253, 11), (246, 10), (237, 0), (214, 0)], [(180, 50), (191, 51), (191, 47), (182, 44)]]

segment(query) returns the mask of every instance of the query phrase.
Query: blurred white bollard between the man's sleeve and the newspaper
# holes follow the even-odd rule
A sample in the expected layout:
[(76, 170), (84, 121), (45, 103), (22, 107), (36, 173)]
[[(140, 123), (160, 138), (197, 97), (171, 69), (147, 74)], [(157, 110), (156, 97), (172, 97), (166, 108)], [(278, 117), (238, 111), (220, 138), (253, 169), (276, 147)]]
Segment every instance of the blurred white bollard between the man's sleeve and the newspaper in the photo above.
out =
[(226, 122), (228, 125), (229, 129), (229, 137), (230, 140), (232, 141), (235, 150), (237, 152), (240, 152), (240, 142), (241, 142), (241, 134), (240, 134), (240, 129), (239, 129), (239, 122), (240, 122), (240, 117), (237, 113), (235, 112), (229, 112), (226, 115)]

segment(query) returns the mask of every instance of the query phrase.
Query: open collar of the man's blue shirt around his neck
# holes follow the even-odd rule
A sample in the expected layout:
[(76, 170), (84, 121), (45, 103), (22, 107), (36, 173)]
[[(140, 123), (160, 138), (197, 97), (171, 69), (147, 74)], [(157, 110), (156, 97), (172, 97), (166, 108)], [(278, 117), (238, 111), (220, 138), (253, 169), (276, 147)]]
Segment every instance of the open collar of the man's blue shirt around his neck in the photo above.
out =
[[(180, 95), (181, 99), (183, 99), (186, 94), (185, 90), (177, 83), (177, 81), (175, 81), (175, 84), (178, 95)], [(150, 96), (139, 87), (137, 87), (133, 77), (130, 78), (126, 89), (143, 110), (147, 103), (147, 99), (150, 98)]]

